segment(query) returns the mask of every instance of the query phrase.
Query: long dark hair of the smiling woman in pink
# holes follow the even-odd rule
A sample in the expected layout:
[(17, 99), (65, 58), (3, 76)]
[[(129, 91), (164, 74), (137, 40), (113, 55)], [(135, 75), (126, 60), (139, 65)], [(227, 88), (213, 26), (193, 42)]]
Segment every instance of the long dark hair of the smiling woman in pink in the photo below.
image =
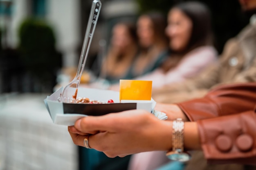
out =
[(213, 45), (211, 30), (211, 13), (208, 7), (201, 2), (181, 2), (172, 7), (180, 9), (193, 23), (191, 38), (187, 50), (199, 46)]

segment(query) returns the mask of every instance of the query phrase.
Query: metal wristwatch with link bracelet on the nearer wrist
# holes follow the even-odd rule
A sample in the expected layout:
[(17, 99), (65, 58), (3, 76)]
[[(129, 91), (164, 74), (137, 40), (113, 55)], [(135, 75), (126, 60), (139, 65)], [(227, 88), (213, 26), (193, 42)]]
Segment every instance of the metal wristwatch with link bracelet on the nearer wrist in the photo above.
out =
[(181, 118), (173, 120), (173, 148), (167, 151), (166, 156), (173, 161), (186, 162), (189, 161), (191, 155), (184, 152), (184, 121)]

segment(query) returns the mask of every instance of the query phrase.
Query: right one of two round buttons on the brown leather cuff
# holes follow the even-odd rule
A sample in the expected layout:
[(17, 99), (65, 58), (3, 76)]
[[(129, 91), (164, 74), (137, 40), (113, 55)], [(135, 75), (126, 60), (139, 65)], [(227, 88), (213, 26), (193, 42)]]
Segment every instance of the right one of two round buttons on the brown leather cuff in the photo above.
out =
[(236, 138), (236, 146), (242, 152), (252, 149), (253, 142), (252, 137), (247, 134), (240, 135)]

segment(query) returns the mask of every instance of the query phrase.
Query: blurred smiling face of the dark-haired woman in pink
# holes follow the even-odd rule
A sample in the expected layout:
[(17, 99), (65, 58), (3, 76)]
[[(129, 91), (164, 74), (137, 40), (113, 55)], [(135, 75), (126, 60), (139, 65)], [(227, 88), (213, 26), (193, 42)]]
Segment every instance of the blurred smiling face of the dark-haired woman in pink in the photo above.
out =
[(192, 21), (180, 9), (172, 9), (168, 14), (166, 35), (170, 38), (170, 48), (174, 51), (186, 49), (192, 33)]

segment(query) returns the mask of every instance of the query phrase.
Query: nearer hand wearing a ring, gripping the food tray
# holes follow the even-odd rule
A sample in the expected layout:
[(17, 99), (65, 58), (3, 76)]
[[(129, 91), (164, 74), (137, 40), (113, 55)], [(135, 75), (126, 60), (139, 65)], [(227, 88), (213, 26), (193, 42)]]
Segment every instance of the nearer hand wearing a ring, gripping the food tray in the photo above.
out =
[(84, 135), (92, 134), (89, 146), (108, 157), (171, 148), (172, 123), (144, 110), (88, 116), (77, 120), (68, 130), (74, 144), (79, 146), (84, 146)]

